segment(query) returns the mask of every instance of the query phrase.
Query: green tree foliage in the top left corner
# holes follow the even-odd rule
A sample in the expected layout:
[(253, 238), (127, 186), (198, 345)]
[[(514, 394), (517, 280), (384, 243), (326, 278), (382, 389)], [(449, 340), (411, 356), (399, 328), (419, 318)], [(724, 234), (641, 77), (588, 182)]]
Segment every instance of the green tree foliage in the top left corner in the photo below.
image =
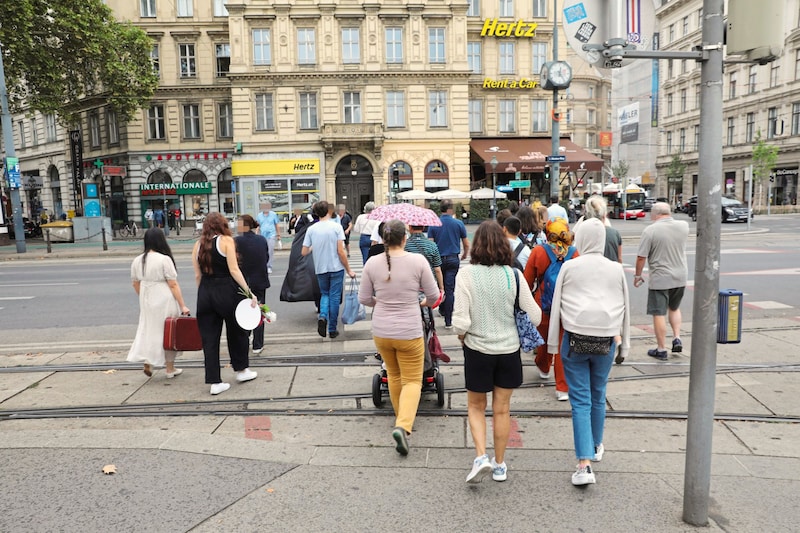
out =
[(97, 105), (130, 120), (158, 87), (152, 41), (102, 0), (3, 2), (0, 45), (12, 108), (54, 112), (66, 124)]

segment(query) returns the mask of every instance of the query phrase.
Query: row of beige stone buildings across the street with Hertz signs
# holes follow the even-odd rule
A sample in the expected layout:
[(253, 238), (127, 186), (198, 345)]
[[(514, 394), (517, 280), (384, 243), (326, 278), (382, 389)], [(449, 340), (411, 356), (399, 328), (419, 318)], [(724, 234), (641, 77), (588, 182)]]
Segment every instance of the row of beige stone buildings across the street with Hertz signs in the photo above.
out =
[[(527, 179), (520, 198), (547, 195), (554, 102), (538, 81), (553, 53), (550, 0), (106, 3), (153, 39), (159, 88), (125, 124), (102, 106), (70, 128), (19, 116), (27, 216), (80, 210), (76, 131), (84, 182), (115, 221), (144, 222), (153, 206), (233, 217), (265, 200), (286, 214), (319, 198), (355, 214), (391, 199), (394, 171), (400, 190), (468, 191), (491, 186), (489, 160), (503, 160), (507, 140), (522, 148), (497, 184)], [(575, 74), (556, 101), (569, 159), (559, 179), (575, 194), (610, 160), (598, 146), (610, 79), (565, 40), (558, 49)]]

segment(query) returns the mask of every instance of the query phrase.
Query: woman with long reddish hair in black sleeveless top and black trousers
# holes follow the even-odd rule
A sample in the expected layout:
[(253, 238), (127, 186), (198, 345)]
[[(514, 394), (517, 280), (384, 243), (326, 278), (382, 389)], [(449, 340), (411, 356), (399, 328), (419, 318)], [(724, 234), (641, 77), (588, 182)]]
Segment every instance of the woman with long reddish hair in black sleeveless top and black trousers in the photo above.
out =
[(211, 385), (211, 394), (219, 394), (230, 388), (230, 384), (222, 381), (219, 369), (223, 322), (236, 381), (250, 381), (258, 375), (248, 368), (250, 335), (239, 326), (235, 316), (236, 306), (244, 298), (242, 292), (252, 295), (253, 307), (258, 306), (258, 299), (239, 270), (236, 243), (228, 220), (221, 213), (209, 213), (203, 221), (203, 232), (192, 251), (192, 263), (198, 286), (197, 325), (203, 339), (206, 383)]

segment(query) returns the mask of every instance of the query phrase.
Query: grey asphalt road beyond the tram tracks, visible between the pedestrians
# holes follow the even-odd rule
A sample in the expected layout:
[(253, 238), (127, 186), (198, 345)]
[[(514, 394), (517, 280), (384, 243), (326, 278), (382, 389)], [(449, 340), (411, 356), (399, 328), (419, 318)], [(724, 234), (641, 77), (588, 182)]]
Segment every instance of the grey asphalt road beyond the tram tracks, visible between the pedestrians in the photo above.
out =
[[(629, 274), (636, 259), (638, 236), (647, 224), (647, 220), (613, 221), (625, 239), (623, 261)], [(694, 224), (692, 228), (694, 233)], [(797, 316), (800, 217), (757, 217), (754, 232), (744, 234), (745, 230), (745, 224), (723, 225), (720, 288), (744, 292), (745, 320)], [(695, 246), (695, 239), (690, 239), (690, 280), (697, 275)], [(357, 254), (354, 249), (351, 265), (360, 272)], [(189, 257), (183, 254), (176, 260), (184, 298), (194, 309), (196, 289)], [(279, 301), (287, 264), (287, 254), (276, 257), (275, 273), (270, 278), (272, 288), (267, 291), (267, 301), (278, 314), (273, 332), (302, 340), (315, 332), (316, 315), (310, 302)], [(631, 284), (632, 323), (650, 322), (644, 314), (645, 301), (645, 288), (635, 289)], [(691, 291), (687, 292), (682, 311), (684, 322), (691, 321)], [(13, 345), (17, 351), (35, 351), (44, 344), (76, 343), (99, 349), (109, 342), (119, 342), (122, 346), (134, 336), (138, 312), (137, 296), (130, 284), (130, 258), (0, 263), (0, 331), (3, 345)]]

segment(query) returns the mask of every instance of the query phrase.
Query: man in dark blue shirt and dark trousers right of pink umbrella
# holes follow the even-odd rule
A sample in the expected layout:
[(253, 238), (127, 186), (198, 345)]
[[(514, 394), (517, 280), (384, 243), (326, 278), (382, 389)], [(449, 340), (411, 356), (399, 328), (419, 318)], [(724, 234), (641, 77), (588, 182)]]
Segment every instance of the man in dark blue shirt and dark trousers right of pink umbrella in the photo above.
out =
[[(439, 306), (439, 314), (444, 317), (445, 329), (453, 327), (453, 302), (455, 301), (456, 274), (461, 259), (469, 255), (469, 240), (464, 223), (453, 216), (453, 201), (442, 200), (442, 225), (431, 226), (428, 238), (439, 247), (442, 257), (442, 276), (444, 277), (444, 300)], [(461, 253), (461, 248), (464, 248)], [(461, 257), (459, 258), (459, 254)]]

